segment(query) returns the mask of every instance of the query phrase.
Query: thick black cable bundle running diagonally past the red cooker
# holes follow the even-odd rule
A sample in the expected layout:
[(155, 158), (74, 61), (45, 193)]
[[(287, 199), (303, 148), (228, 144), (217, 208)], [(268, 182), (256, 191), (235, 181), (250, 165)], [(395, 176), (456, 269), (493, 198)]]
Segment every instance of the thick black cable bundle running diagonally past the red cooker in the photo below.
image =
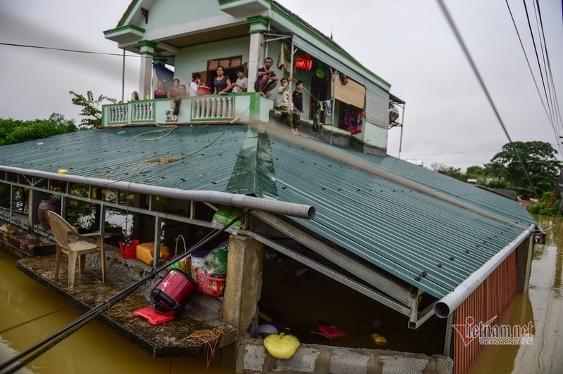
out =
[[(200, 242), (198, 242), (196, 245), (192, 246), (188, 251), (186, 251), (183, 254), (180, 254), (178, 257), (176, 257), (176, 259), (175, 259), (176, 262), (179, 261), (180, 259), (183, 259), (184, 257), (186, 257), (188, 254), (195, 252), (200, 247), (203, 247), (203, 245), (209, 243), (210, 240), (213, 240), (214, 238), (219, 236), (220, 233), (223, 233), (225, 230), (227, 230), (227, 228), (232, 226), (236, 221), (239, 221), (240, 219), (243, 219), (244, 217), (246, 217), (250, 212), (251, 212), (251, 209), (247, 209), (245, 212), (240, 214), (239, 217), (232, 219), (232, 221), (230, 221), (228, 224), (222, 226), (222, 228), (215, 229), (215, 233), (208, 236), (207, 239), (200, 240)], [(143, 285), (146, 282), (146, 280), (151, 280), (151, 279), (155, 278), (156, 275), (160, 271), (163, 271), (168, 266), (170, 266), (170, 264), (167, 263), (167, 264), (164, 264), (162, 266), (159, 266), (156, 269), (153, 269), (153, 271), (151, 271), (146, 276), (144, 276), (143, 278), (138, 280), (136, 283), (129, 285), (129, 287), (125, 288), (125, 290), (122, 290), (121, 292), (118, 292), (118, 294), (113, 295), (109, 299), (106, 299), (105, 301), (101, 302), (96, 307), (90, 309), (89, 311), (87, 311), (87, 313), (85, 313), (82, 316), (80, 316), (79, 318), (75, 319), (75, 321), (72, 321), (71, 323), (66, 325), (64, 328), (62, 328), (61, 330), (58, 330), (56, 333), (53, 333), (49, 337), (46, 337), (41, 342), (34, 344), (34, 346), (26, 349), (24, 352), (21, 352), (20, 354), (13, 356), (11, 359), (8, 359), (8, 361), (1, 363), (0, 364), (0, 370), (4, 370), (4, 369), (8, 368), (9, 366), (11, 366), (16, 361), (19, 361), (20, 359), (23, 359), (23, 361), (20, 361), (20, 362), (18, 362), (17, 365), (9, 368), (5, 372), (5, 374), (15, 373), (16, 371), (20, 370), (21, 368), (24, 368), (28, 363), (32, 362), (34, 359), (37, 359), (37, 357), (44, 354), (46, 351), (48, 351), (49, 349), (54, 347), (56, 344), (58, 344), (62, 340), (65, 340), (66, 337), (72, 335), (77, 330), (80, 330), (80, 328), (82, 328), (84, 325), (86, 325), (87, 323), (92, 321), (94, 318), (99, 316), (99, 314), (103, 313), (103, 311), (106, 311), (106, 310), (110, 309), (111, 307), (113, 307), (113, 305), (118, 304), (118, 302), (120, 302), (122, 299), (124, 299), (129, 294), (131, 294), (134, 290), (137, 290), (137, 288), (139, 288), (141, 285)], [(24, 357), (27, 357), (27, 358), (24, 359)]]

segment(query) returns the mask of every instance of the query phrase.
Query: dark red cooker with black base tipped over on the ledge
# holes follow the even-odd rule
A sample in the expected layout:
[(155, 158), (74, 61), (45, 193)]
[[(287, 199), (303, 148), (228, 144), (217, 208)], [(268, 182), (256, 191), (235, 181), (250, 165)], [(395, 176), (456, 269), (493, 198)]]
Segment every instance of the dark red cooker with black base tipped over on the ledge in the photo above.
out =
[(184, 311), (196, 292), (196, 283), (189, 274), (172, 269), (151, 290), (151, 304), (159, 314), (178, 315)]

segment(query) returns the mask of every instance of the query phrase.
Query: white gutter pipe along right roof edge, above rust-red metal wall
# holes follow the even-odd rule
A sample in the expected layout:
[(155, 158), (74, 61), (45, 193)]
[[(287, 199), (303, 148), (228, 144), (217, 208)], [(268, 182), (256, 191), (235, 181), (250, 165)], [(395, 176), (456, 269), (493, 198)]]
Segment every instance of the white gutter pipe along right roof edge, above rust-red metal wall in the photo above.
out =
[(534, 225), (531, 225), (523, 233), (521, 233), (516, 239), (508, 243), (508, 245), (500, 252), (495, 254), (491, 259), (488, 260), (483, 266), (472, 273), (467, 279), (462, 283), (457, 285), (457, 287), (448, 295), (442, 297), (441, 300), (434, 304), (434, 313), (440, 318), (446, 318), (449, 316), (457, 307), (464, 302), (469, 295), (472, 294), (474, 290), (498, 267), (500, 263), (505, 261), (505, 259), (515, 250), (532, 232)]

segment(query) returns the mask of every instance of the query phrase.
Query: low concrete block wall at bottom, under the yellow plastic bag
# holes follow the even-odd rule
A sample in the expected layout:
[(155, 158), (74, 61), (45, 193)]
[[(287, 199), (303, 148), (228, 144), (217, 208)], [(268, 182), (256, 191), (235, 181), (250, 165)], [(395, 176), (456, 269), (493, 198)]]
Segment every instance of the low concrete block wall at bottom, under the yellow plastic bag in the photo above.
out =
[(350, 349), (301, 344), (290, 359), (275, 359), (263, 340), (250, 337), (236, 342), (236, 373), (415, 374), (453, 372), (449, 357), (379, 349)]

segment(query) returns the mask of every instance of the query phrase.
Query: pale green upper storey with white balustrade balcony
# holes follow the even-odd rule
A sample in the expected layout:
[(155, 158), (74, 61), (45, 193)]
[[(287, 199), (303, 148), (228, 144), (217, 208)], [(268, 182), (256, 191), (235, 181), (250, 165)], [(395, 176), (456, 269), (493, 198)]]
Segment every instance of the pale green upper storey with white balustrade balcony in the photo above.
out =
[[(400, 124), (398, 106), (404, 102), (390, 93), (388, 82), (276, 1), (132, 1), (117, 27), (104, 35), (143, 57), (139, 59), (143, 97), (155, 89), (163, 63), (174, 66), (173, 77), (182, 84), (200, 73), (212, 89), (219, 65), (233, 81), (235, 68), (245, 68), (248, 93), (186, 97), (179, 123), (267, 122), (279, 84), (267, 99), (254, 92), (253, 81), (270, 56), (278, 77), (293, 75), (293, 84), (304, 82), (308, 92), (302, 119), (312, 122), (322, 109), (322, 138), (332, 136), (343, 145), (384, 155), (388, 129)], [(169, 105), (169, 100), (106, 105), (103, 125), (165, 123)]]

